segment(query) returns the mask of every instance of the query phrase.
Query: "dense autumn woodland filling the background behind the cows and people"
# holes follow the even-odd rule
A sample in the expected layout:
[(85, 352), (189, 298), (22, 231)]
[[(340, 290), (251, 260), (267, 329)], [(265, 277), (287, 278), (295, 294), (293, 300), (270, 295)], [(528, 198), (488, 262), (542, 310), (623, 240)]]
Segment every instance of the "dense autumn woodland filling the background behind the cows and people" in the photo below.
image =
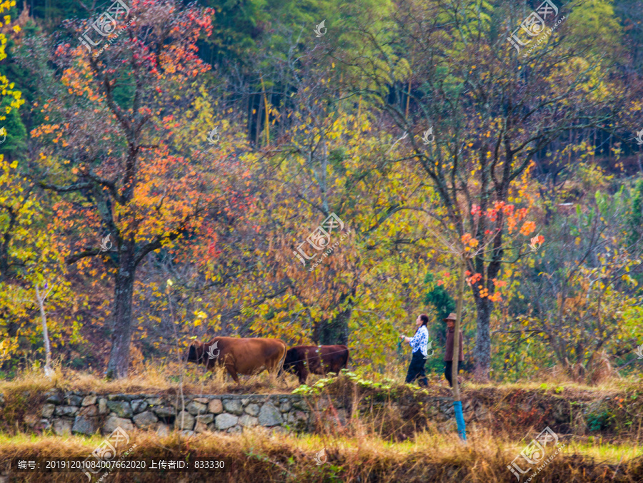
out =
[(461, 268), (480, 380), (640, 370), (638, 1), (517, 51), (542, 1), (127, 0), (89, 51), (113, 3), (2, 4), (1, 375), (214, 335), (382, 372), (422, 312), (441, 370)]

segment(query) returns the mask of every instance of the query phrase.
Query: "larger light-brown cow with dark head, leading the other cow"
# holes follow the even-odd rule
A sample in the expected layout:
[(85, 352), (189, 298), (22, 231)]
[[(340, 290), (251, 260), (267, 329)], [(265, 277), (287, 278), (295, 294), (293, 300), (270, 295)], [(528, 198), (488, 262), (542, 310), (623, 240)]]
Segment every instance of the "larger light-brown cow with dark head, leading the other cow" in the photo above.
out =
[(238, 374), (258, 374), (267, 369), (277, 374), (284, 365), (286, 343), (279, 339), (214, 337), (210, 342), (194, 342), (186, 357), (188, 362), (206, 365), (208, 370), (224, 364), (234, 382)]

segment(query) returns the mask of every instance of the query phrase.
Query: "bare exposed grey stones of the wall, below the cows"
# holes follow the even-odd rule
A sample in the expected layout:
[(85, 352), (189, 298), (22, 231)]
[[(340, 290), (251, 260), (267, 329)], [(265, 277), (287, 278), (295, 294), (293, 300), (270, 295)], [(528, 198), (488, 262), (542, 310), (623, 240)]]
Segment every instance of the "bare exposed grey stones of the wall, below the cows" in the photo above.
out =
[(246, 428), (306, 431), (310, 410), (299, 395), (222, 395), (159, 397), (155, 395), (83, 395), (51, 391), (42, 408), (40, 425), (56, 434), (109, 434), (148, 429), (164, 435), (173, 429), (186, 434), (239, 433)]

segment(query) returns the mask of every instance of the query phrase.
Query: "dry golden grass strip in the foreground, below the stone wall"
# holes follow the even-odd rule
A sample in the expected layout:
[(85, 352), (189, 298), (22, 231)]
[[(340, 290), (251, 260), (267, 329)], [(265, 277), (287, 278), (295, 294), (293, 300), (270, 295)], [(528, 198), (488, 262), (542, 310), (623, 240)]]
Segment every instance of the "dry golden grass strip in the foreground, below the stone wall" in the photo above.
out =
[[(100, 437), (14, 437), (0, 435), (0, 467), (11, 457), (86, 457)], [(641, 481), (643, 450), (638, 445), (567, 444), (539, 482)], [(149, 432), (132, 432), (130, 444), (137, 447), (131, 457), (224, 456), (232, 472), (199, 474), (112, 474), (114, 482), (509, 482), (514, 476), (507, 464), (526, 441), (480, 431), (462, 444), (454, 434), (423, 432), (407, 442), (389, 442), (376, 436), (327, 437), (324, 435), (271, 434), (256, 429), (244, 434), (179, 433), (159, 437)], [(314, 457), (325, 450), (327, 462), (317, 465)], [(618, 476), (617, 476), (618, 475)], [(46, 479), (44, 479), (46, 476)], [(615, 477), (612, 479), (612, 477)], [(83, 477), (84, 478), (84, 477)], [(34, 475), (29, 482), (83, 481), (79, 475)]]

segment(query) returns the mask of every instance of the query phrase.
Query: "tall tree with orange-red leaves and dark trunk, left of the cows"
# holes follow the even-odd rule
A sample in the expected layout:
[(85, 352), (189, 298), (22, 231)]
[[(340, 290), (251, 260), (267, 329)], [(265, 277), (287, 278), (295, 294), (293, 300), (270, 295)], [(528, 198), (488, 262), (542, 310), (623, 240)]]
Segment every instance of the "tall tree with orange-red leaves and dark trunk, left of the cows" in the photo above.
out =
[[(59, 193), (59, 223), (78, 237), (68, 263), (88, 266), (96, 257), (111, 274), (107, 373), (124, 377), (136, 268), (147, 254), (198, 231), (211, 205), (207, 167), (191, 163), (171, 142), (172, 112), (189, 102), (209, 68), (195, 43), (209, 33), (211, 12), (134, 1), (113, 14), (116, 25), (101, 25), (104, 45), (89, 29), (84, 44), (52, 46), (60, 87), (42, 106), (49, 123), (32, 133), (43, 141), (33, 171), (44, 188)], [(91, 21), (68, 25), (82, 33)]]

